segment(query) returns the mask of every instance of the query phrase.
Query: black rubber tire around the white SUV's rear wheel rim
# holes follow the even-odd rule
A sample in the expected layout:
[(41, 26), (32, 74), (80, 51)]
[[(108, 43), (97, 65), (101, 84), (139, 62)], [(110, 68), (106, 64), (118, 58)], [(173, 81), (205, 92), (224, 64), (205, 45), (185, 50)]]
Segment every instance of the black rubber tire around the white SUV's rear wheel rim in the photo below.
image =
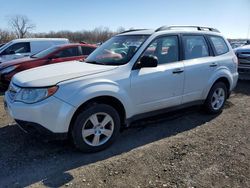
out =
[[(215, 93), (215, 91), (217, 91), (218, 89), (223, 89), (224, 91), (224, 101), (222, 103), (222, 105), (218, 108), (218, 109), (215, 109), (212, 105), (212, 102), (213, 102), (213, 94)], [(225, 102), (226, 102), (226, 99), (227, 99), (227, 96), (228, 96), (228, 90), (227, 90), (227, 87), (226, 85), (223, 83), (223, 82), (217, 82), (215, 83), (212, 88), (210, 89), (209, 91), (209, 94), (207, 96), (207, 99), (204, 103), (204, 107), (205, 107), (205, 110), (210, 113), (210, 114), (217, 114), (217, 113), (220, 113), (222, 112), (223, 110), (223, 107), (225, 105)]]

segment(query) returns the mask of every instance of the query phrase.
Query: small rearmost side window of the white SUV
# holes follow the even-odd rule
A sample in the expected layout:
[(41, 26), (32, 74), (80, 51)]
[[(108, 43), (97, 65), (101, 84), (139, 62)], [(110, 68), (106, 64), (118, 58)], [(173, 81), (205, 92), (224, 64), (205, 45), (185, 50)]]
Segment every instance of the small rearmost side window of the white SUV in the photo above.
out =
[(222, 37), (209, 36), (209, 39), (212, 42), (216, 55), (222, 55), (229, 51), (228, 46)]

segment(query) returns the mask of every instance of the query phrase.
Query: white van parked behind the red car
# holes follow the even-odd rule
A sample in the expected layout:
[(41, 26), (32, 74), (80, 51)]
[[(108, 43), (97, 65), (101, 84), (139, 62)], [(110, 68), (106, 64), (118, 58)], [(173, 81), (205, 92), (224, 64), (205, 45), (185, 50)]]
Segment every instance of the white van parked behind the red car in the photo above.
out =
[(30, 56), (54, 45), (69, 43), (65, 38), (15, 39), (0, 47), (0, 63)]

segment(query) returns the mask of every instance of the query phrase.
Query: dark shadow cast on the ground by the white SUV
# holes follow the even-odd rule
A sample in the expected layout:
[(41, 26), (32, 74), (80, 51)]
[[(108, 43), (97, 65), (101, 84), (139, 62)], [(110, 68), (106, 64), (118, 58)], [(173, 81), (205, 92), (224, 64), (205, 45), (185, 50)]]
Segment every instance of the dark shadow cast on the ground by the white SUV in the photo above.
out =
[(194, 129), (215, 115), (192, 107), (133, 123), (122, 131), (108, 149), (91, 154), (77, 151), (70, 142), (44, 142), (23, 133), (17, 125), (0, 128), (0, 187), (24, 187), (42, 181), (59, 187), (73, 179), (67, 172), (97, 161), (129, 152), (149, 143)]

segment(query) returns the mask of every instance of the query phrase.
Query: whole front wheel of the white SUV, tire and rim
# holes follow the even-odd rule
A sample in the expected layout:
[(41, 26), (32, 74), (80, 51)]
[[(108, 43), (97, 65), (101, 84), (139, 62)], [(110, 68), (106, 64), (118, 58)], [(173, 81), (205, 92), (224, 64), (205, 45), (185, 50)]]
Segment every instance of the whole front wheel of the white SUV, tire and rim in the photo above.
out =
[(119, 135), (121, 122), (117, 111), (106, 104), (93, 104), (81, 112), (72, 128), (73, 143), (82, 152), (101, 151)]

